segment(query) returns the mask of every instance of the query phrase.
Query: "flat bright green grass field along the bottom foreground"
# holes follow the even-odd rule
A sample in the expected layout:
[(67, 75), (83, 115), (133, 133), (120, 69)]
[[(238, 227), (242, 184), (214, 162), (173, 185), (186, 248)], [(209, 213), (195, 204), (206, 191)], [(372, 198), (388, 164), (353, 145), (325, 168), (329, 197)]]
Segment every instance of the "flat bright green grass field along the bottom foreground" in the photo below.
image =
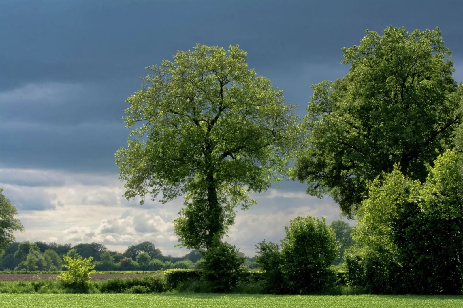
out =
[(453, 308), (463, 296), (248, 296), (185, 294), (0, 294), (0, 307)]

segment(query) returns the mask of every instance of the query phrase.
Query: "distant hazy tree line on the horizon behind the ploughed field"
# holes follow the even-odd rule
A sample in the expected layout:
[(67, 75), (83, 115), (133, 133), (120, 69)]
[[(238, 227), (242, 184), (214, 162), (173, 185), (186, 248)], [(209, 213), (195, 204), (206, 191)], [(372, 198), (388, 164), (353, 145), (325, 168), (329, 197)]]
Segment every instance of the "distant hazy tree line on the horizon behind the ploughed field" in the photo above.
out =
[[(124, 253), (110, 251), (103, 244), (81, 243), (56, 244), (37, 242), (13, 242), (6, 247), (0, 259), (0, 271), (61, 271), (63, 255), (87, 259), (93, 257), (97, 271), (157, 271), (171, 268), (194, 268), (200, 262), (198, 250), (192, 250), (182, 257), (164, 256), (159, 248), (145, 241), (128, 246)], [(243, 255), (244, 256), (244, 255)], [(246, 265), (255, 268), (252, 258), (246, 258)]]

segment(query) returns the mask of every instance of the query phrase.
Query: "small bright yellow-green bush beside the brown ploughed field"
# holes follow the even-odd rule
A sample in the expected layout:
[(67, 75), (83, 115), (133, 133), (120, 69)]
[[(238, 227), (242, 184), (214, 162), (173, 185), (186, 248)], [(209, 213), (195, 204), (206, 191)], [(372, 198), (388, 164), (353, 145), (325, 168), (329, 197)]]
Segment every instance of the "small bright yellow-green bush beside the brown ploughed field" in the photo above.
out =
[(68, 270), (62, 272), (56, 278), (62, 281), (65, 287), (75, 290), (88, 290), (92, 280), (90, 275), (95, 273), (95, 271), (92, 271), (95, 265), (91, 265), (93, 257), (83, 259), (82, 257), (71, 258), (63, 255), (63, 259), (66, 262), (63, 267)]

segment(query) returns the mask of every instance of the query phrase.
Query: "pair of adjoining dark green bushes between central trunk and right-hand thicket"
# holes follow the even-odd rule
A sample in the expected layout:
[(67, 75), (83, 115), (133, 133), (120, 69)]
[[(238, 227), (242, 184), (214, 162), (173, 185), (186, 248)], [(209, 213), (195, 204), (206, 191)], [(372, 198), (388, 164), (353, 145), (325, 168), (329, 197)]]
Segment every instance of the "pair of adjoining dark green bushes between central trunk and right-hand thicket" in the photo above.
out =
[(265, 240), (257, 245), (264, 289), (275, 294), (309, 294), (334, 286), (338, 278), (332, 263), (340, 243), (325, 218), (298, 216), (285, 229), (281, 245)]

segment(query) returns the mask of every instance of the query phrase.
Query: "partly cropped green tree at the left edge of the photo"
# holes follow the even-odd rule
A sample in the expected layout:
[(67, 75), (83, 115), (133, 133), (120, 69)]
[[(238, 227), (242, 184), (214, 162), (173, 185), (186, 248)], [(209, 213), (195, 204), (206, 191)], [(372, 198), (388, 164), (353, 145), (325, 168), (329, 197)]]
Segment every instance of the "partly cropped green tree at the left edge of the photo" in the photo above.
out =
[(23, 225), (19, 219), (14, 218), (18, 215), (16, 207), (10, 203), (3, 195), (3, 188), (0, 188), (0, 257), (14, 241), (14, 231), (23, 231)]

